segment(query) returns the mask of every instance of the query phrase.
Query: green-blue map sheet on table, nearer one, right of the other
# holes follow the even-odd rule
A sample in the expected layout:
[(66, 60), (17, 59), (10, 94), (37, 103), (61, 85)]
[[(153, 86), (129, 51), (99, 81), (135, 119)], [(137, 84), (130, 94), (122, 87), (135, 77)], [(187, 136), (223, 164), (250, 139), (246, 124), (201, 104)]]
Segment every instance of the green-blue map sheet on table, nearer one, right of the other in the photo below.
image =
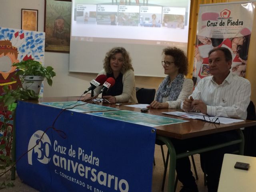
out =
[(126, 121), (130, 123), (135, 123), (135, 124), (140, 124), (140, 125), (145, 125), (150, 127), (188, 122), (186, 120), (151, 115), (151, 114), (128, 111), (128, 110), (96, 112), (96, 113), (90, 113), (90, 115), (101, 116), (105, 118)]

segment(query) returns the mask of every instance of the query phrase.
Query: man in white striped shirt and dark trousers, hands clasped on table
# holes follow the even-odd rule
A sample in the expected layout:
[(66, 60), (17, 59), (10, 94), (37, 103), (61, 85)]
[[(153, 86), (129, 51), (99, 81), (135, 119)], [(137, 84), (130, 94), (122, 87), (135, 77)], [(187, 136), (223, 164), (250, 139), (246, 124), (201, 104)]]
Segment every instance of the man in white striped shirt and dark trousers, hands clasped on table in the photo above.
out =
[[(209, 70), (212, 76), (205, 77), (196, 86), (189, 98), (181, 104), (182, 110), (200, 111), (209, 116), (223, 116), (246, 119), (250, 103), (251, 86), (245, 78), (230, 72), (232, 54), (224, 47), (215, 48), (208, 54)], [(235, 130), (210, 134), (186, 140), (172, 140), (177, 153), (195, 148), (228, 142), (238, 138)], [(200, 154), (202, 168), (207, 173), (208, 192), (217, 192), (220, 171), (225, 153), (232, 153), (238, 146), (228, 146)], [(183, 183), (182, 192), (198, 191), (190, 170), (188, 158), (176, 162), (179, 180)]]

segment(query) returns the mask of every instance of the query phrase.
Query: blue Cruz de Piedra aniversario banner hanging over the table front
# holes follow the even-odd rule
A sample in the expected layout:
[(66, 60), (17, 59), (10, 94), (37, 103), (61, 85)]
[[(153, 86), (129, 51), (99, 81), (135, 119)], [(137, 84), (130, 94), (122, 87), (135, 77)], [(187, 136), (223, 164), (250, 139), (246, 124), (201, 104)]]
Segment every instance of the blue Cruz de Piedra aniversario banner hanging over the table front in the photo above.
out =
[(16, 159), (35, 146), (17, 162), (24, 183), (42, 192), (151, 192), (154, 128), (61, 111), (18, 103)]

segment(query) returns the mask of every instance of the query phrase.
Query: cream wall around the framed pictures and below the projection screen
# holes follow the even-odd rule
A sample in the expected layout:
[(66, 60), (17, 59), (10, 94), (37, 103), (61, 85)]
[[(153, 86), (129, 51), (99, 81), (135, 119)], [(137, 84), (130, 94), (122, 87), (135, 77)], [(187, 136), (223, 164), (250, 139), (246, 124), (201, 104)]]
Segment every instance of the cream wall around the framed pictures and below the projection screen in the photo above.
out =
[[(6, 28), (21, 28), (21, 9), (38, 10), (38, 31), (44, 31), (44, 0), (0, 0), (0, 26)], [(159, 53), (161, 54), (161, 53)], [(104, 55), (99, 56), (104, 58)], [(90, 81), (96, 74), (68, 72), (69, 54), (45, 52), (45, 66), (52, 66), (57, 76), (53, 78), (52, 87), (44, 83), (44, 96), (80, 96), (90, 86)], [(102, 65), (102, 64), (100, 64)], [(159, 61), (159, 67), (161, 63)], [(162, 78), (136, 77), (136, 86), (157, 88)]]

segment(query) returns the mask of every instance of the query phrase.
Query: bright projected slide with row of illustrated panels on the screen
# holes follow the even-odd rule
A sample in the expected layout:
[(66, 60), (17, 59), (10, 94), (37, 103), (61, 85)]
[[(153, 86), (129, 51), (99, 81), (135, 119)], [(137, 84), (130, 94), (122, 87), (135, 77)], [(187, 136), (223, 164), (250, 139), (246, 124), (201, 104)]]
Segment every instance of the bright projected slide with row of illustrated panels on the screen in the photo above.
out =
[(179, 4), (170, 0), (147, 2), (74, 0), (72, 38), (95, 42), (102, 41), (98, 38), (112, 38), (112, 42), (130, 39), (137, 44), (187, 42), (188, 0)]

